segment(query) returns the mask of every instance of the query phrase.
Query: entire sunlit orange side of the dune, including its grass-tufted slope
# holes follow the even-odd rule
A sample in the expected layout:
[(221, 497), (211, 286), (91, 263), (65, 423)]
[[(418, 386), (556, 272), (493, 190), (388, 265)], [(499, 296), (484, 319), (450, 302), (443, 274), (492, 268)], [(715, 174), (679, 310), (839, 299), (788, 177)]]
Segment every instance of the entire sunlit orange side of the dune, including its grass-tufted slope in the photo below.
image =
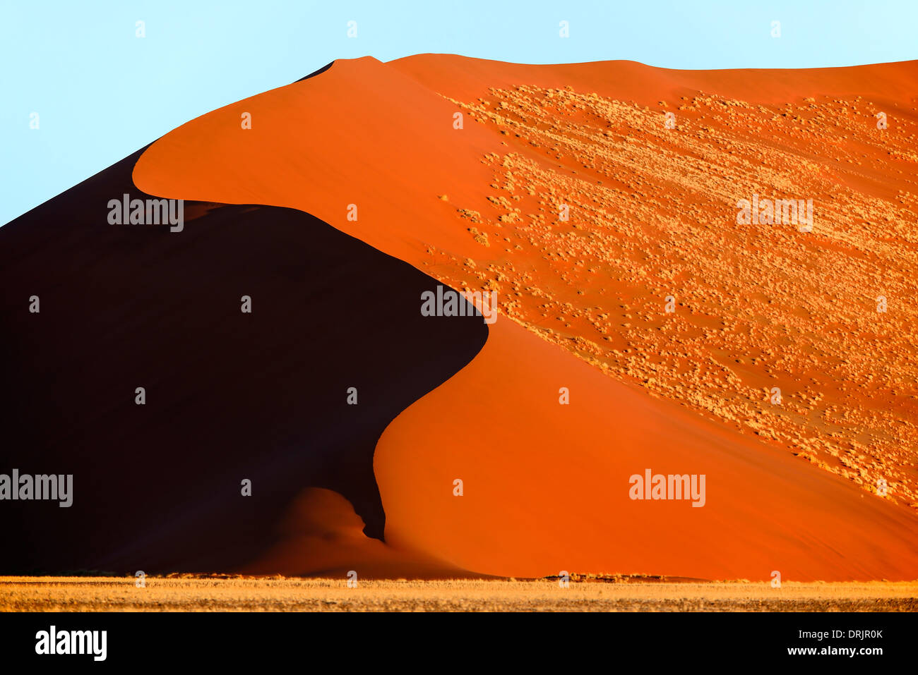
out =
[[(296, 207), (455, 288), (498, 290), (485, 348), (376, 448), (398, 548), (518, 576), (908, 580), (916, 80), (913, 62), (336, 61), (174, 130), (134, 181)], [(813, 198), (818, 226), (737, 226), (753, 193)], [(705, 474), (707, 502), (629, 499), (645, 469)], [(886, 499), (864, 489), (881, 476)]]

